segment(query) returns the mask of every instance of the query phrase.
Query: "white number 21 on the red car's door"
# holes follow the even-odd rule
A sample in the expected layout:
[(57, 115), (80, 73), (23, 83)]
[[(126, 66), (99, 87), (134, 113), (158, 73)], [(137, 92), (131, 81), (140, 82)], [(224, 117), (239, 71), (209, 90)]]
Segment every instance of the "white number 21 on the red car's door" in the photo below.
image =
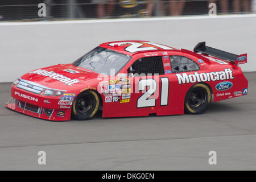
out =
[[(160, 92), (160, 106), (168, 105), (168, 94), (169, 94), (169, 79), (167, 77), (160, 78), (161, 80), (161, 92)], [(142, 94), (137, 100), (137, 107), (155, 107), (156, 98), (149, 98), (156, 91), (156, 81), (152, 78), (139, 80), (138, 90), (145, 90), (149, 86), (147, 92)]]

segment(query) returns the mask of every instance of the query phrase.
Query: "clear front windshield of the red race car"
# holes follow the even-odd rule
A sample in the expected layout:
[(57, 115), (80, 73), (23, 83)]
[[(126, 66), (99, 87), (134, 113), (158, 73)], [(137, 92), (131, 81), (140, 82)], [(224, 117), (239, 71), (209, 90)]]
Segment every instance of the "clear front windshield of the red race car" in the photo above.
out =
[(111, 49), (96, 47), (76, 60), (73, 65), (96, 73), (106, 73), (107, 75), (110, 75), (110, 69), (114, 69), (116, 75), (130, 59), (131, 56), (129, 55), (115, 52)]

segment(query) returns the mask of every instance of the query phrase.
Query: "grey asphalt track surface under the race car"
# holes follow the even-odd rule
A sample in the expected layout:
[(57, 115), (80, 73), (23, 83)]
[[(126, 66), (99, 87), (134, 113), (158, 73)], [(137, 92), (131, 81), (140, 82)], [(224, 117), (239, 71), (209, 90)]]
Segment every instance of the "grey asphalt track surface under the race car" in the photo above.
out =
[[(216, 102), (201, 115), (50, 122), (9, 109), (0, 84), (1, 170), (256, 169), (256, 72), (249, 94)], [(46, 165), (38, 152), (46, 151)], [(209, 165), (209, 151), (217, 164)]]

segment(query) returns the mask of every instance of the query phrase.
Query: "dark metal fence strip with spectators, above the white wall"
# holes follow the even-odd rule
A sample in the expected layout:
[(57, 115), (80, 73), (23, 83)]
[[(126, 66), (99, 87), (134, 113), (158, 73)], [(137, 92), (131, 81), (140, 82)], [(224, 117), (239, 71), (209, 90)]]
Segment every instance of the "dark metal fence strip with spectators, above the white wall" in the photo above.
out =
[(256, 0), (1, 0), (0, 21), (255, 13)]

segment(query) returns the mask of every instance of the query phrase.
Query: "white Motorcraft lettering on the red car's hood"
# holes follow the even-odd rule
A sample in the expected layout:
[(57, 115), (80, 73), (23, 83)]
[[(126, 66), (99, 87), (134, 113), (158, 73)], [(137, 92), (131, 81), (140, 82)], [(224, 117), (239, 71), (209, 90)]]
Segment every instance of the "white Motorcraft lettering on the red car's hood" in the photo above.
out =
[(37, 69), (36, 71), (32, 71), (30, 73), (51, 77), (52, 79), (59, 80), (59, 81), (63, 82), (64, 84), (67, 84), (69, 86), (72, 86), (72, 84), (76, 84), (76, 83), (79, 82), (79, 80), (77, 80), (77, 79), (73, 79), (72, 80), (71, 78), (68, 78), (66, 76), (60, 75), (59, 73), (55, 73), (53, 71), (48, 72), (48, 71), (46, 71), (44, 69)]

